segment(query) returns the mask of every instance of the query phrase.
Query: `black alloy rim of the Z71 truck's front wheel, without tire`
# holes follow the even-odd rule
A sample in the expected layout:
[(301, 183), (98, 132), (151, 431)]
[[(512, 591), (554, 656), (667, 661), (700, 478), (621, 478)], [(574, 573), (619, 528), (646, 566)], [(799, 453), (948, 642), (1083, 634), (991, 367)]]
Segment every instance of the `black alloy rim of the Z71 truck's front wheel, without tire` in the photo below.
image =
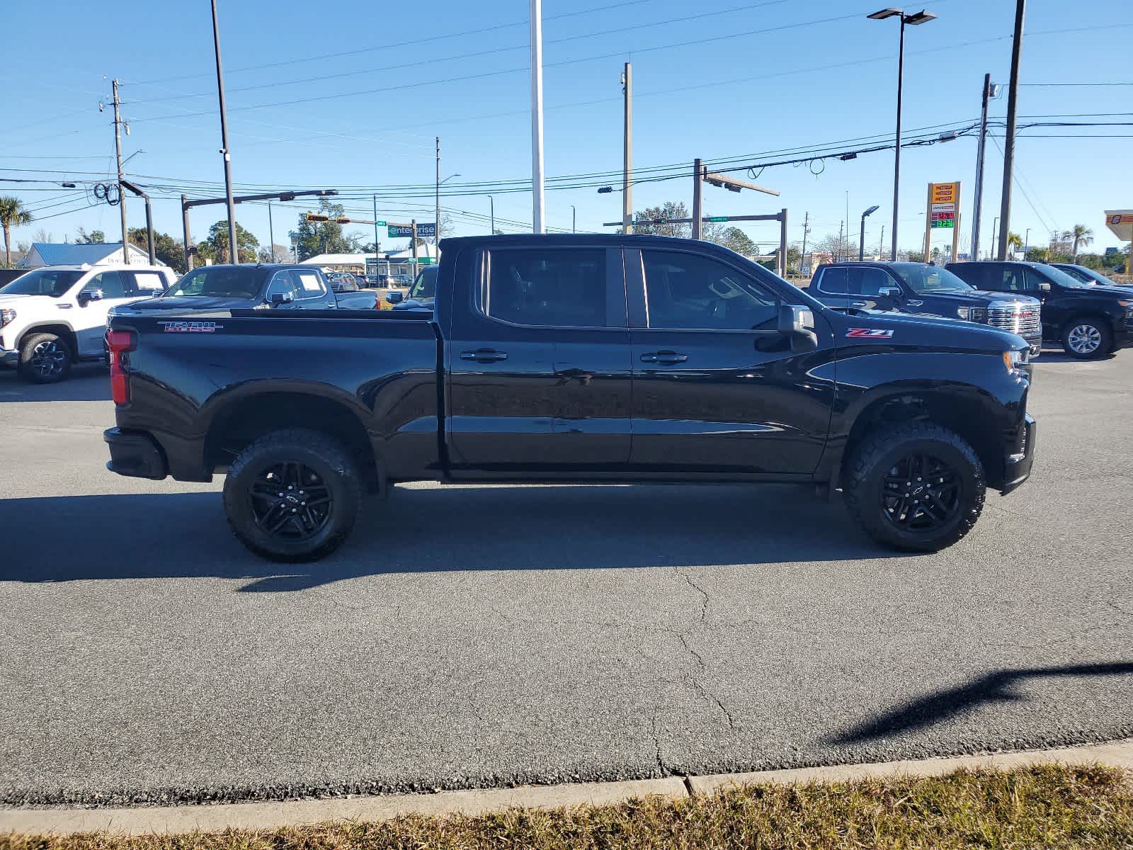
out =
[(956, 470), (931, 454), (901, 458), (886, 474), (881, 510), (903, 532), (945, 528), (962, 504), (963, 484)]

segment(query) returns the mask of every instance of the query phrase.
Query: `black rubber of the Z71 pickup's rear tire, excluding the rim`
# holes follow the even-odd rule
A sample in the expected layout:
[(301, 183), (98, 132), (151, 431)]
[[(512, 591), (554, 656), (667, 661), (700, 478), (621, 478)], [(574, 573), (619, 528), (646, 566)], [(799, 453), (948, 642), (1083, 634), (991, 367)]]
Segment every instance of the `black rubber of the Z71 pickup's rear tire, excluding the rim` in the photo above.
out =
[[(330, 493), (331, 513), (308, 539), (281, 539), (256, 521), (252, 485), (276, 464), (300, 464), (316, 471)], [(350, 535), (361, 508), (361, 474), (338, 442), (317, 431), (288, 428), (256, 440), (236, 458), (224, 479), (224, 515), (236, 538), (261, 558), (286, 563), (317, 561)]]

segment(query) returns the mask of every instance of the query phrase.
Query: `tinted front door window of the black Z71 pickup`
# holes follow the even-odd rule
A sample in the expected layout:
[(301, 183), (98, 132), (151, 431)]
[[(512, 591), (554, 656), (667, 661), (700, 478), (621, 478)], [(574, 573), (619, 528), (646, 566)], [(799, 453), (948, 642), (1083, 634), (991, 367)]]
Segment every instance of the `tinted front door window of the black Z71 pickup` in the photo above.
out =
[(730, 265), (671, 250), (641, 257), (649, 328), (738, 331), (777, 321), (775, 294)]

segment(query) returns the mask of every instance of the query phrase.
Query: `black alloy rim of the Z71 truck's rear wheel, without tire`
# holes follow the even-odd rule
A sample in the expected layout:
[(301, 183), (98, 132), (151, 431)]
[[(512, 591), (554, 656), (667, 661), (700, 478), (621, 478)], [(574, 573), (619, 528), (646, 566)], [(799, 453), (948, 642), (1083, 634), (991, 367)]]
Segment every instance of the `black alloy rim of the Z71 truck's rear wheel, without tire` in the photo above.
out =
[(265, 534), (284, 541), (306, 541), (331, 519), (334, 498), (314, 469), (303, 464), (274, 464), (262, 470), (248, 490), (252, 515)]

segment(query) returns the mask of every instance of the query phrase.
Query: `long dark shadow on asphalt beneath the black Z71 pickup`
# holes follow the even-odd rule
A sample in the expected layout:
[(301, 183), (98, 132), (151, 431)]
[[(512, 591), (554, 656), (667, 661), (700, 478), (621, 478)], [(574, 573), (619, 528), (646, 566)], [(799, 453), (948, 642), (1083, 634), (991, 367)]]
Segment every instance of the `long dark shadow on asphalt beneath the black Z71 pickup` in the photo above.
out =
[(381, 573), (625, 569), (900, 556), (841, 504), (782, 486), (395, 487), (315, 562), (279, 564), (229, 533), (220, 494), (0, 500), (0, 580), (250, 579), (295, 592)]

